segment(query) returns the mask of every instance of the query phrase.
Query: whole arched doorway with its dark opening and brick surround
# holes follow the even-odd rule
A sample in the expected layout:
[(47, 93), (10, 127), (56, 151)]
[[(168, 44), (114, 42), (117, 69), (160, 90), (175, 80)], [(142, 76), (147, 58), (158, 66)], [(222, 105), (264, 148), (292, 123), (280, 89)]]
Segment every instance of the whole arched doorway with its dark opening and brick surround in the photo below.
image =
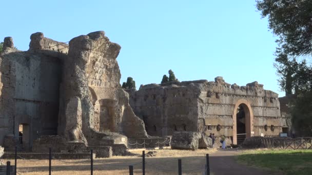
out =
[(241, 144), (245, 138), (251, 137), (253, 131), (253, 114), (249, 102), (240, 99), (233, 112), (233, 144)]

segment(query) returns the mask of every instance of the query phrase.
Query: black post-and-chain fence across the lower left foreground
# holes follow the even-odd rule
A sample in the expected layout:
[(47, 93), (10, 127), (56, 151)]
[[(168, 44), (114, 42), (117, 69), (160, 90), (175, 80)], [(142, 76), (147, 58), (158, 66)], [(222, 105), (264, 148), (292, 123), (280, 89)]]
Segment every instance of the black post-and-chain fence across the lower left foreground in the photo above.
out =
[[(4, 169), (5, 172), (2, 171), (2, 173), (5, 173), (6, 175), (11, 175), (11, 174), (22, 175), (23, 174), (23, 172), (16, 171), (17, 170), (17, 166), (18, 166), (18, 164), (17, 164), (17, 157), (24, 159), (23, 157), (17, 155), (17, 147), (15, 147), (15, 159), (14, 159), (15, 164), (12, 166), (11, 162), (7, 161), (7, 167)], [(49, 175), (52, 174), (51, 160), (57, 160), (57, 161), (61, 161), (61, 162), (64, 162), (64, 163), (71, 163), (71, 164), (73, 163), (73, 162), (67, 162), (67, 161), (64, 161), (64, 160), (61, 160), (61, 159), (54, 158), (53, 157), (53, 153), (51, 151), (51, 148), (49, 148), (49, 168), (47, 169), (47, 171), (49, 172)], [(41, 160), (31, 160), (31, 161), (41, 161)], [(93, 175), (93, 150), (92, 149), (90, 150), (90, 160), (87, 160), (87, 161), (90, 162), (90, 174)], [(203, 164), (203, 166), (201, 168), (183, 169), (182, 160), (178, 159), (178, 169), (168, 169), (168, 168), (160, 167), (160, 166), (155, 165), (153, 163), (147, 162), (145, 160), (145, 151), (142, 151), (142, 161), (141, 162), (129, 163), (127, 165), (129, 167), (129, 174), (133, 175), (133, 167), (134, 167), (134, 165), (140, 165), (140, 164), (142, 164), (142, 174), (143, 175), (145, 175), (145, 167), (146, 167), (146, 165), (148, 165), (150, 167), (157, 168), (159, 170), (178, 171), (179, 175), (182, 175), (182, 172), (184, 172), (184, 171), (190, 172), (190, 171), (196, 171), (196, 170), (201, 170), (201, 172), (203, 174), (210, 175), (209, 154), (206, 154), (206, 164)], [(105, 166), (105, 164), (103, 164), (103, 166)], [(119, 166), (119, 165), (109, 165), (109, 166)], [(122, 165), (122, 166), (125, 166), (125, 165)], [(1, 172), (0, 172), (0, 174), (1, 174)]]

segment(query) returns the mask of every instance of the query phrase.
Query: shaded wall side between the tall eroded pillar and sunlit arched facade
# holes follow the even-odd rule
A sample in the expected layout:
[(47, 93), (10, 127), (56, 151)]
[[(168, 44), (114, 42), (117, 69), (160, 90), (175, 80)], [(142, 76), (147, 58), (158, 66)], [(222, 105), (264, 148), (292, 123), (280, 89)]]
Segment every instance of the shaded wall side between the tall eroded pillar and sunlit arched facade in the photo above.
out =
[[(202, 81), (200, 81), (202, 82)], [(197, 131), (197, 81), (148, 84), (130, 92), (130, 105), (151, 136), (169, 136), (175, 131)]]

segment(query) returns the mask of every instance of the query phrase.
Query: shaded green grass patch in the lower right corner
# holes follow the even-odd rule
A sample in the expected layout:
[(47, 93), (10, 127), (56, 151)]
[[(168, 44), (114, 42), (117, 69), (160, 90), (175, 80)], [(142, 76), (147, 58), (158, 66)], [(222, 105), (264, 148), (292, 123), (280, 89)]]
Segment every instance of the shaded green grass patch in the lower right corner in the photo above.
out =
[(237, 160), (283, 174), (312, 174), (312, 150), (248, 150)]

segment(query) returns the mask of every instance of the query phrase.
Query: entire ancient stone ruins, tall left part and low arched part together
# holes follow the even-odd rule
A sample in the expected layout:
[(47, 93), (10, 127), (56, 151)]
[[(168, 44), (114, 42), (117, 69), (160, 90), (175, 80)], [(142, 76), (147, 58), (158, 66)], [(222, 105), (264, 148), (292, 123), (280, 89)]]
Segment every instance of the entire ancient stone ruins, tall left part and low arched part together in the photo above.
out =
[[(173, 148), (227, 144), (278, 136), (287, 129), (278, 94), (257, 81), (246, 86), (222, 77), (121, 89), (121, 47), (103, 31), (69, 43), (31, 35), (28, 51), (4, 40), (0, 55), (0, 145), (34, 152), (122, 155), (127, 139), (174, 136)], [(130, 97), (129, 97), (130, 94)], [(131, 105), (131, 106), (130, 106)], [(133, 109), (133, 110), (132, 110)]]

